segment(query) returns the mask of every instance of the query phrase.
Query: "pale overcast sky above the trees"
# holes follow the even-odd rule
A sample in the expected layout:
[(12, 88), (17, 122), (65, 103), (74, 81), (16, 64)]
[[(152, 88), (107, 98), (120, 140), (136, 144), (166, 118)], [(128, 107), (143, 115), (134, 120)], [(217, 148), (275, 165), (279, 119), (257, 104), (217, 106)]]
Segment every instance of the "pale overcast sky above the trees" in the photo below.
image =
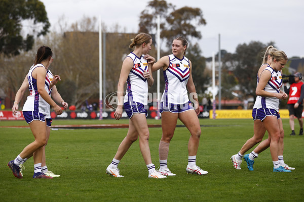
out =
[[(68, 23), (84, 16), (101, 16), (107, 26), (116, 23), (127, 32), (137, 33), (140, 12), (147, 0), (41, 0), (52, 26), (64, 15)], [(221, 49), (235, 53), (238, 44), (274, 41), (276, 47), (292, 56), (304, 57), (304, 1), (302, 0), (167, 0), (176, 6), (200, 8), (206, 26), (200, 26), (203, 56)]]

